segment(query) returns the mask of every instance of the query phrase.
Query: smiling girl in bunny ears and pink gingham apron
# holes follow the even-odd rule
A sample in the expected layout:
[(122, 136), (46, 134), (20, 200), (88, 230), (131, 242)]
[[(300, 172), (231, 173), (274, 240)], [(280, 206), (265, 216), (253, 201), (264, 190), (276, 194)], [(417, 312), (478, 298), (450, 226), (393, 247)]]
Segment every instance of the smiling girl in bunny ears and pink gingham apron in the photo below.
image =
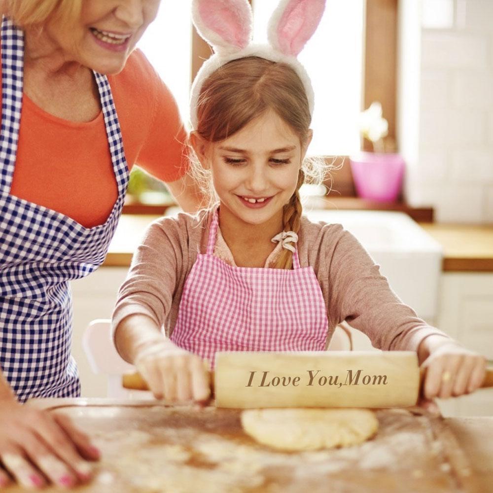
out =
[(113, 315), (116, 348), (158, 398), (207, 399), (217, 351), (324, 351), (343, 320), (377, 348), (418, 352), (427, 398), (484, 378), (485, 358), (418, 318), (348, 231), (302, 215), (299, 189), (317, 169), (305, 159), (313, 92), (295, 56), (322, 11), (282, 1), (258, 47), (246, 0), (194, 2), (216, 54), (194, 82), (190, 142), (218, 204), (150, 225)]

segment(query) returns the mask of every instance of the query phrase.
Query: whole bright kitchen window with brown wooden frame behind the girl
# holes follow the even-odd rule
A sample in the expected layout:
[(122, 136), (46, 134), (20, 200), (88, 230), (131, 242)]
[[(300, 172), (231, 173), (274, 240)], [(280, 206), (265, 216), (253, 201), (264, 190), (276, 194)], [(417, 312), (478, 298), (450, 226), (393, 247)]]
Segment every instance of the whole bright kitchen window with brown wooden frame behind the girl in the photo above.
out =
[[(255, 42), (265, 41), (266, 24), (278, 1), (251, 1)], [(185, 122), (191, 81), (211, 55), (209, 45), (192, 31), (190, 2), (164, 0), (139, 43), (175, 95)], [(397, 0), (327, 0), (317, 32), (299, 55), (316, 97), (311, 154), (347, 156), (358, 151), (358, 113), (372, 101), (382, 103), (388, 136), (394, 138), (396, 26)], [(336, 173), (336, 189), (351, 195), (349, 167)]]

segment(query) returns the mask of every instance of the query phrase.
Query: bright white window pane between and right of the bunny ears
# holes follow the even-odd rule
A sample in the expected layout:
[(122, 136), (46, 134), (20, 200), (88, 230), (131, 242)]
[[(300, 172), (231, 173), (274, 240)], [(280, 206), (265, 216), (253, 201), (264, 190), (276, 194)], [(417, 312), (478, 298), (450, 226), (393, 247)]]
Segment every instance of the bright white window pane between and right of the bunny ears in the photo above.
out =
[[(254, 1), (254, 41), (267, 42), (267, 23), (278, 3)], [(327, 0), (317, 31), (298, 56), (315, 92), (311, 154), (359, 150), (363, 16), (363, 0)]]

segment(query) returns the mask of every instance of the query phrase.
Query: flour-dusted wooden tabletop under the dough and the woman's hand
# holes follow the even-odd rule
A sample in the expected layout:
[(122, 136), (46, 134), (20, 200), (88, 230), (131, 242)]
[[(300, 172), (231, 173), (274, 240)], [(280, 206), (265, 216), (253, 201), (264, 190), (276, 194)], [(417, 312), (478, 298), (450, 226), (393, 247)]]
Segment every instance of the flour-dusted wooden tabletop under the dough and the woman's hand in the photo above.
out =
[(191, 493), (199, 480), (202, 488), (214, 484), (214, 492), (300, 492), (309, 486), (321, 493), (327, 484), (334, 493), (492, 492), (493, 417), (444, 419), (416, 407), (375, 410), (378, 432), (361, 445), (285, 453), (248, 437), (234, 409), (108, 399), (34, 399), (28, 405), (68, 414), (103, 451), (95, 480), (80, 489), (87, 493), (177, 491), (177, 485)]

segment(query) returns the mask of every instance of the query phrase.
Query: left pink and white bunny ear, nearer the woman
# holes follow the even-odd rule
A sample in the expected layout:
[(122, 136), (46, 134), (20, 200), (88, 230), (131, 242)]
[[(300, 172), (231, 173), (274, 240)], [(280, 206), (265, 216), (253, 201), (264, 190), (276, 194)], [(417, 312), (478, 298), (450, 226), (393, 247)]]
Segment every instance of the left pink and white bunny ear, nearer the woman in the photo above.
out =
[(192, 21), (216, 53), (239, 51), (252, 37), (253, 16), (247, 0), (193, 0)]

